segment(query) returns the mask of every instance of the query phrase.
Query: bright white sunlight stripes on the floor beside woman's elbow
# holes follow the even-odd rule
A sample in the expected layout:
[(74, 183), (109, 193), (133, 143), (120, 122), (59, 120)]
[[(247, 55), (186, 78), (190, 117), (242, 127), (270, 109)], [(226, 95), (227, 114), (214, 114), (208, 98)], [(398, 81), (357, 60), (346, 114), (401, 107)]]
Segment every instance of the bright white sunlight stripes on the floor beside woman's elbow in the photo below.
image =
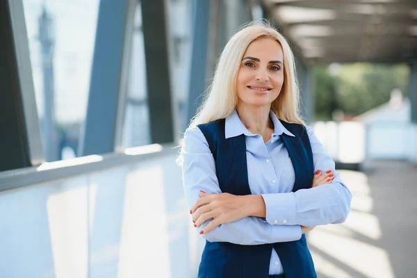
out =
[(353, 195), (351, 211), (345, 223), (316, 227), (309, 233), (316, 270), (328, 277), (352, 277), (338, 266), (343, 265), (365, 277), (393, 278), (388, 252), (373, 245), (382, 231), (372, 214), (373, 199), (366, 175), (345, 170), (340, 173)]

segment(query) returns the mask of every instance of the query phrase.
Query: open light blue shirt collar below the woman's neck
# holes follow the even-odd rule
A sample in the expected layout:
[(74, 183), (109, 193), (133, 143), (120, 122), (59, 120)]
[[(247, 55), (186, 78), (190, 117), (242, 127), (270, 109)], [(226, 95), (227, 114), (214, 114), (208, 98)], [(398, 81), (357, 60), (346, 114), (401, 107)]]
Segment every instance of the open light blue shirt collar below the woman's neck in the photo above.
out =
[[(282, 133), (286, 133), (288, 136), (293, 136), (293, 133), (288, 131), (285, 126), (279, 121), (277, 115), (274, 112), (270, 111), (270, 119), (274, 123), (274, 133), (272, 135), (280, 136)], [(245, 136), (256, 136), (256, 134), (251, 133), (247, 130), (246, 126), (240, 121), (238, 112), (236, 109), (226, 118), (224, 125), (224, 136), (225, 138), (231, 138), (245, 134)]]

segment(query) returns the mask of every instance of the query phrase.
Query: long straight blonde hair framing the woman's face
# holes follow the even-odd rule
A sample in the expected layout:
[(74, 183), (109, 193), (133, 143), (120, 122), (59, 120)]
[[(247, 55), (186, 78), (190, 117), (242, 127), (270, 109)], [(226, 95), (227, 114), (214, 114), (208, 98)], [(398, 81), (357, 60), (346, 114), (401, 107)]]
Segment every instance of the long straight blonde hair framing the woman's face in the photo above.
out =
[[(224, 47), (211, 85), (204, 94), (202, 105), (190, 126), (206, 124), (228, 117), (238, 104), (236, 79), (243, 54), (249, 44), (260, 38), (271, 38), (281, 44), (284, 51), (284, 83), (271, 110), (281, 120), (304, 124), (300, 117), (300, 91), (295, 72), (293, 51), (284, 38), (269, 22), (249, 22), (234, 34)], [(304, 124), (305, 125), (305, 124)]]

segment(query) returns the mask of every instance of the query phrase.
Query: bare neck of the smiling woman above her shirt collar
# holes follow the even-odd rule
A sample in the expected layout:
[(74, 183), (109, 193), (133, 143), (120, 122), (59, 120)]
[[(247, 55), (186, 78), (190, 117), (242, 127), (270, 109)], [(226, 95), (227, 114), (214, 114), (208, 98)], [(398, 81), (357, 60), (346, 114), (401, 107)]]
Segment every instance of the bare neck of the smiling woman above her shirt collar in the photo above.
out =
[(270, 106), (238, 104), (236, 111), (238, 111), (240, 121), (251, 133), (265, 137), (271, 130), (273, 131), (274, 124), (269, 117)]

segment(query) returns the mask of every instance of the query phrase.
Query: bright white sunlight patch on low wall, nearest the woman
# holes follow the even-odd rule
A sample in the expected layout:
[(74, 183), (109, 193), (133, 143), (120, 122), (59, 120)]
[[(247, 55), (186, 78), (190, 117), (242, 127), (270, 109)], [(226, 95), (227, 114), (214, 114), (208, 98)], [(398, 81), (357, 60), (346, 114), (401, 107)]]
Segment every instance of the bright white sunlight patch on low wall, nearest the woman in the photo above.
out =
[(171, 277), (164, 194), (161, 167), (126, 178), (117, 277)]

